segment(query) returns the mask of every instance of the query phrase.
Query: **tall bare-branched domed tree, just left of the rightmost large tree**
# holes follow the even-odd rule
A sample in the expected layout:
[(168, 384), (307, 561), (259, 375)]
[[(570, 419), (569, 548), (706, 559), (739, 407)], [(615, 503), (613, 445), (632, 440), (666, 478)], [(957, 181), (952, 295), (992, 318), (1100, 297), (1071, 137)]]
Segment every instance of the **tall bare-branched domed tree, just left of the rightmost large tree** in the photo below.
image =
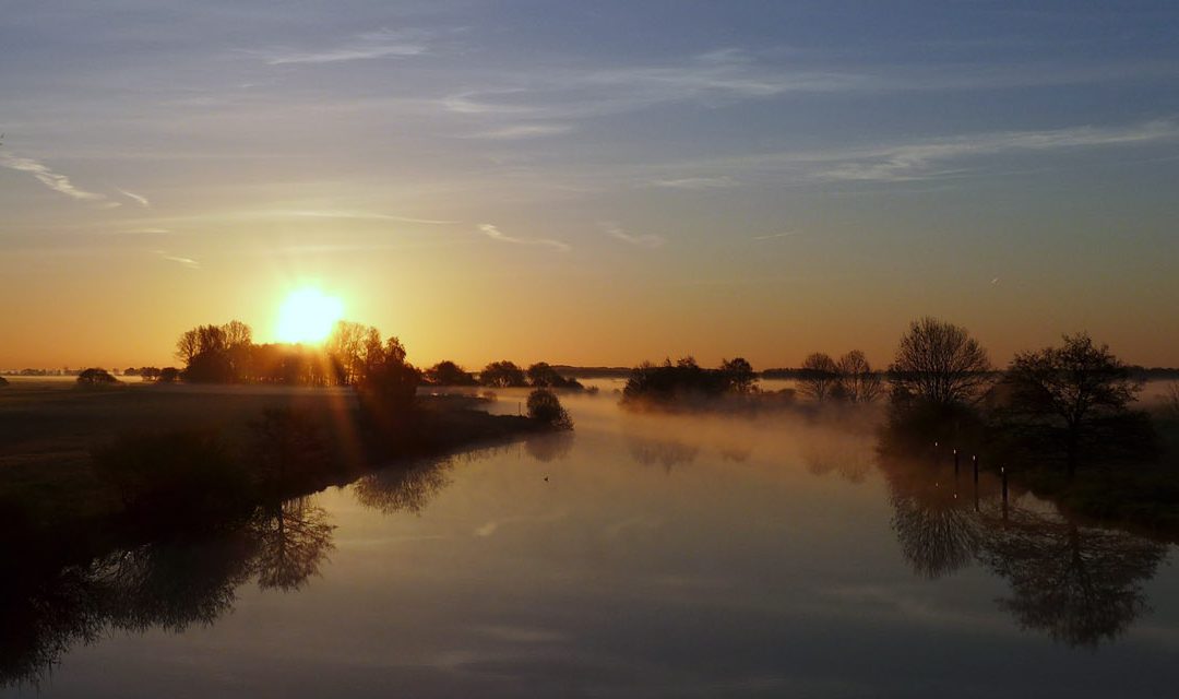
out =
[(970, 405), (992, 383), (990, 361), (964, 328), (924, 317), (901, 337), (889, 381), (894, 400), (902, 404)]

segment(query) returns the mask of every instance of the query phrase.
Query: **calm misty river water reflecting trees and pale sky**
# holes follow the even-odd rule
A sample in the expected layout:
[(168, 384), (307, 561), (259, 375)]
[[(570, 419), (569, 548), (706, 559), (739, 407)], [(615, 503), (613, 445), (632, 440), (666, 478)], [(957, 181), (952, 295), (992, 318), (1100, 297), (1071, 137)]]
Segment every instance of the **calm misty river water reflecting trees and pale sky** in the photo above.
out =
[(1005, 516), (989, 475), (882, 463), (863, 427), (567, 402), (575, 435), (116, 556), (94, 574), (134, 594), (0, 693), (1173, 695), (1166, 545)]

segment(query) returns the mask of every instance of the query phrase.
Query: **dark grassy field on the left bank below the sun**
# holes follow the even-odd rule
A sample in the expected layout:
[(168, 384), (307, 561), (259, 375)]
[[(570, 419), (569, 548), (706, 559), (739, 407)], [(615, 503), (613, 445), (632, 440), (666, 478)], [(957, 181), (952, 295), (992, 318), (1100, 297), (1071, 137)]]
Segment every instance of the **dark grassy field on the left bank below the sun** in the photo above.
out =
[[(527, 418), (476, 407), (472, 398), (421, 397), (411, 416), (374, 434), (378, 430), (365, 423), (347, 388), (83, 389), (52, 378), (15, 380), (0, 389), (0, 520), (41, 529), (119, 516), (129, 507), (131, 475), (138, 490), (145, 480), (160, 487), (174, 481), (198, 499), (202, 493), (192, 490), (217, 484), (179, 472), (212, 472), (215, 463), (239, 472), (235, 483), (244, 483), (248, 497), (292, 495), (345, 482), (400, 456), (538, 429)], [(200, 449), (216, 453), (193, 453)], [(202, 459), (208, 468), (187, 463)], [(131, 469), (138, 470), (129, 475)]]

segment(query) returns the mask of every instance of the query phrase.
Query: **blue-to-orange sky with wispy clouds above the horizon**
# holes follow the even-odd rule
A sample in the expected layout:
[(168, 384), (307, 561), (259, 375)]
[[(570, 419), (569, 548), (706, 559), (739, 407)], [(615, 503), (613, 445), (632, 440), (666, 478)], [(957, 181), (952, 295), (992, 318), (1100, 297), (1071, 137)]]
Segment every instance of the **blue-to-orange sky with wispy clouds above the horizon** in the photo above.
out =
[(0, 2), (0, 369), (336, 296), (409, 360), (1179, 365), (1179, 4)]

